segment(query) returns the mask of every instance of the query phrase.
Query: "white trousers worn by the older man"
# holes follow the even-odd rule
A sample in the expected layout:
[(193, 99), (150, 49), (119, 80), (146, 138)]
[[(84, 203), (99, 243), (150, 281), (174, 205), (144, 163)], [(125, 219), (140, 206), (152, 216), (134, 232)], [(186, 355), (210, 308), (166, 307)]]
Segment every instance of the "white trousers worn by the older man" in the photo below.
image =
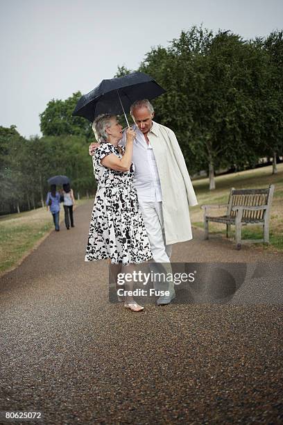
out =
[[(162, 213), (162, 202), (143, 202), (139, 201), (139, 210), (141, 211), (142, 218), (144, 219), (144, 226), (148, 234), (148, 240), (151, 244), (151, 252), (153, 253), (154, 263), (150, 263), (150, 268), (154, 272), (172, 273), (170, 257), (172, 253), (172, 246), (166, 245), (165, 232), (164, 232), (164, 219)], [(160, 264), (161, 263), (161, 264)], [(166, 263), (166, 264), (164, 264)], [(155, 289), (164, 288), (156, 282), (154, 283)], [(166, 285), (165, 290), (173, 290), (173, 285)]]

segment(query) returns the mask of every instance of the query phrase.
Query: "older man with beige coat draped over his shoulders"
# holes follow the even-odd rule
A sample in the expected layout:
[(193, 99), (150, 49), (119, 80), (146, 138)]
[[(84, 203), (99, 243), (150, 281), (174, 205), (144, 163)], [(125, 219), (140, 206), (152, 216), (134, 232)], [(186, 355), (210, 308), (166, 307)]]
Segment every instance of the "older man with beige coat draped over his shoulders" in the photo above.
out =
[[(133, 103), (130, 113), (136, 124), (133, 127), (136, 133), (132, 153), (133, 184), (156, 270), (167, 264), (168, 273), (171, 272), (171, 245), (192, 239), (189, 206), (197, 205), (198, 201), (175, 133), (153, 121), (153, 106), (147, 99)], [(125, 142), (126, 137), (121, 144)], [(96, 144), (89, 146), (90, 154), (94, 147)], [(157, 304), (168, 304), (175, 298), (173, 284), (169, 290), (170, 296), (160, 297)]]

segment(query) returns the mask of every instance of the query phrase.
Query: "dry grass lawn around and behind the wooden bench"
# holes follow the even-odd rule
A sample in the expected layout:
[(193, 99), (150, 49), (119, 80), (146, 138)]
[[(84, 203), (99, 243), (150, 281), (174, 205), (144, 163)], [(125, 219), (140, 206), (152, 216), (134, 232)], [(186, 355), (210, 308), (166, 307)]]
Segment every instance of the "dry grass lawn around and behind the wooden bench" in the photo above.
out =
[[(253, 244), (255, 247), (263, 247), (269, 251), (283, 251), (283, 164), (277, 165), (278, 173), (272, 173), (272, 166), (258, 169), (250, 169), (245, 172), (227, 174), (216, 177), (216, 189), (209, 191), (208, 178), (193, 181), (194, 189), (198, 198), (198, 206), (190, 208), (191, 224), (203, 228), (203, 210), (200, 206), (205, 203), (228, 203), (230, 188), (252, 189), (267, 188), (275, 185), (270, 220), (270, 244)], [(211, 210), (209, 214), (224, 215), (225, 208)], [(209, 223), (209, 234), (226, 235), (225, 224)], [(234, 237), (234, 226), (231, 226), (231, 238)], [(243, 226), (243, 239), (261, 239), (262, 226)]]

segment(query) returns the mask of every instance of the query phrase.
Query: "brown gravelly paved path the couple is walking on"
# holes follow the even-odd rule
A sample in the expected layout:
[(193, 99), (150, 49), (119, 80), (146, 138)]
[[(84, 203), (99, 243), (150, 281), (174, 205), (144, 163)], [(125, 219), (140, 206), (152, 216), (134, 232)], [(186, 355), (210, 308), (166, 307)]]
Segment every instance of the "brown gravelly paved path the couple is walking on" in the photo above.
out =
[[(92, 203), (0, 279), (0, 410), (44, 424), (282, 423), (282, 306), (109, 303), (107, 262), (84, 262)], [(259, 259), (194, 235), (173, 261)]]

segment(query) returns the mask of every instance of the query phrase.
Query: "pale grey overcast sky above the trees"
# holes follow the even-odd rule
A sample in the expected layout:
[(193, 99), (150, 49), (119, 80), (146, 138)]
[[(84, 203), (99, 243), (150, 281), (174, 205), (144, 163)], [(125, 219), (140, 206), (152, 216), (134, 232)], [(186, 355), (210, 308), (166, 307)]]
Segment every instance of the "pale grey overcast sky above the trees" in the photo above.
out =
[(137, 69), (152, 47), (203, 24), (245, 39), (283, 28), (282, 0), (0, 0), (0, 126), (40, 133), (51, 99)]

